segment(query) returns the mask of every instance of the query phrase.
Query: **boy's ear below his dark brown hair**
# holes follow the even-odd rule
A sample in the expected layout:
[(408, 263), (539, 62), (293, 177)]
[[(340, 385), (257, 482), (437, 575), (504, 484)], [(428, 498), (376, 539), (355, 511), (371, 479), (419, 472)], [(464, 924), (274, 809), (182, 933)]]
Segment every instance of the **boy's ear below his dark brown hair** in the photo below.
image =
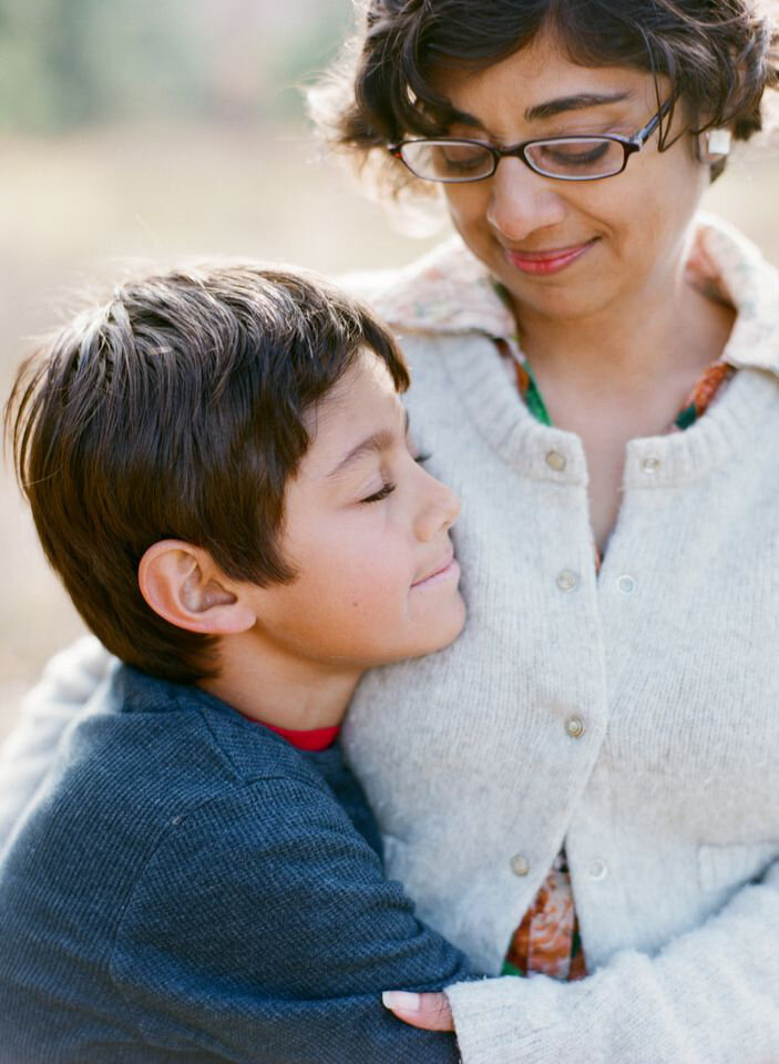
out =
[(139, 565), (147, 605), (170, 624), (204, 635), (235, 635), (257, 616), (229, 586), (211, 554), (184, 540), (152, 544)]

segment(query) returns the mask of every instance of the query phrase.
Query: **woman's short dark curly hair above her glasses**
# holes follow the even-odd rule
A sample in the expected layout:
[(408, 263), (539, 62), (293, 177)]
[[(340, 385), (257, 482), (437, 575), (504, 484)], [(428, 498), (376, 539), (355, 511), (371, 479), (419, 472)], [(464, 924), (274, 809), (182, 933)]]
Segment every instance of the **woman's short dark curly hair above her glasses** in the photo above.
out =
[[(457, 120), (433, 73), (483, 70), (544, 29), (575, 63), (665, 75), (691, 132), (729, 126), (748, 140), (762, 126), (765, 90), (779, 85), (777, 28), (750, 0), (362, 0), (358, 37), (309, 92), (314, 120), (330, 146), (370, 164), (383, 191), (432, 191), (383, 149)], [(672, 122), (673, 112), (660, 150)]]

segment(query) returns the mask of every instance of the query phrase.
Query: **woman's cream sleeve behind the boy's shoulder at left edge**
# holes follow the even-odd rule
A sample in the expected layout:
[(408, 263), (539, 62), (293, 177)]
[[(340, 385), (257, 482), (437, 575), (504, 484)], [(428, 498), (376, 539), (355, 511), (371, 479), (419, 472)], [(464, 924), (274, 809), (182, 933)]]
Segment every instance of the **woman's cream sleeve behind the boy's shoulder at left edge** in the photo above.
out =
[(0, 848), (54, 758), (60, 736), (115, 662), (93, 636), (55, 654), (0, 749)]

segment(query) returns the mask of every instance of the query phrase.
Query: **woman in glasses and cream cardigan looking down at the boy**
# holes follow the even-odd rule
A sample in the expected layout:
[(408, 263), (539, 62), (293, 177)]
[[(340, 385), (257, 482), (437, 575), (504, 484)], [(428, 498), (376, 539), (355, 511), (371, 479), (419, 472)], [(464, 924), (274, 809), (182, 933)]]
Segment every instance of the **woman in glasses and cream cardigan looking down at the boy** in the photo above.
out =
[(779, 1056), (779, 300), (696, 218), (771, 47), (744, 0), (371, 0), (318, 96), (459, 233), (373, 298), (469, 624), (347, 746), (419, 914), (554, 976), (452, 988), (465, 1064)]

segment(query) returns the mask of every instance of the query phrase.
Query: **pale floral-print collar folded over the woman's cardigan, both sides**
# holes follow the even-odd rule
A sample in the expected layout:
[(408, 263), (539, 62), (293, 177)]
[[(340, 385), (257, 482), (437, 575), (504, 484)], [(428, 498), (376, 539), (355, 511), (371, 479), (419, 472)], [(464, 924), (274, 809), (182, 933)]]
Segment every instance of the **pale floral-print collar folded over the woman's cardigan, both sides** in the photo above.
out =
[[(759, 249), (726, 223), (701, 215), (687, 270), (694, 284), (737, 310), (725, 360), (779, 376), (779, 282)], [(399, 270), (371, 301), (401, 334), (510, 339), (516, 331), (500, 285), (459, 236)]]

